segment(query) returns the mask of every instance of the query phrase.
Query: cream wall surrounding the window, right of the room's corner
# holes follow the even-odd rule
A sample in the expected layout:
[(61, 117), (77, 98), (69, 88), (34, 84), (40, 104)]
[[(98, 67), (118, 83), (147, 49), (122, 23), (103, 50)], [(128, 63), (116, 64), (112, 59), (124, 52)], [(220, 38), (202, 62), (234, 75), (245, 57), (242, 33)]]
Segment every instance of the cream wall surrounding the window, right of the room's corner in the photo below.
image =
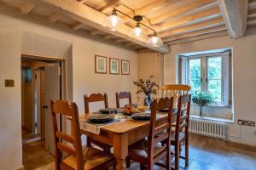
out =
[(177, 74), (176, 54), (206, 51), (218, 48), (233, 48), (233, 104), (235, 122), (229, 124), (229, 139), (244, 144), (256, 145), (256, 128), (237, 125), (238, 119), (256, 121), (256, 31), (247, 31), (240, 39), (217, 37), (197, 42), (173, 45), (165, 55), (164, 82), (175, 83)]

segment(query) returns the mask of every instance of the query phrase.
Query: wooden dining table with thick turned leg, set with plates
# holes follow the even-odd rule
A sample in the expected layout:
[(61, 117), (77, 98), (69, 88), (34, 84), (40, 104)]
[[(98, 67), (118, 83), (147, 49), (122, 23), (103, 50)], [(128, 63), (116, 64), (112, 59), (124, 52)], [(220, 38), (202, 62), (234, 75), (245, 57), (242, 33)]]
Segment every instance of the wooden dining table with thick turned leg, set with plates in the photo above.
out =
[[(80, 121), (86, 121), (89, 114), (80, 116)], [(167, 122), (167, 113), (158, 113), (156, 125)], [(173, 113), (172, 122), (176, 122), (176, 112)], [(100, 133), (90, 133), (80, 126), (81, 133), (99, 141), (103, 144), (113, 146), (113, 156), (115, 156), (117, 170), (126, 169), (125, 157), (128, 155), (128, 146), (144, 139), (149, 134), (149, 121), (138, 122), (131, 119), (125, 119), (121, 122), (108, 124), (100, 128)]]

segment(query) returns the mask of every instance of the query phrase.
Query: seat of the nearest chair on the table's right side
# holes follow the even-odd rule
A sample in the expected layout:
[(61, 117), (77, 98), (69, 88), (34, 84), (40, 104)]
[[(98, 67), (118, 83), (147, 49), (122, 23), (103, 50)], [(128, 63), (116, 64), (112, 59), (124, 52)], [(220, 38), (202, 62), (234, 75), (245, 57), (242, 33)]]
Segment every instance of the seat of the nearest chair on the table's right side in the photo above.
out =
[[(154, 156), (159, 154), (165, 147), (157, 144), (154, 146)], [(143, 158), (148, 157), (148, 143), (145, 141), (139, 141), (136, 144), (129, 146), (129, 155), (141, 156)]]

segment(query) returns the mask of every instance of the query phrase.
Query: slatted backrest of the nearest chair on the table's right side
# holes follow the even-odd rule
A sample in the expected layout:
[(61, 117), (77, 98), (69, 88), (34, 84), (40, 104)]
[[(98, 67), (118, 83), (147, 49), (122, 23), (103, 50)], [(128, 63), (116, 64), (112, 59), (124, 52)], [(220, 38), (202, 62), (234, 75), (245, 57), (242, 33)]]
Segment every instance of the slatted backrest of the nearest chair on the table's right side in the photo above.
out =
[[(172, 107), (173, 98), (161, 98), (157, 102), (156, 99), (150, 105), (151, 116), (150, 116), (150, 127), (148, 136), (148, 161), (153, 161), (154, 159), (154, 146), (161, 141), (167, 141), (166, 146), (171, 145), (172, 136)], [(164, 124), (156, 124), (156, 113), (159, 110), (168, 108), (168, 121)], [(166, 151), (166, 150), (163, 150)], [(159, 155), (161, 155), (159, 153)]]

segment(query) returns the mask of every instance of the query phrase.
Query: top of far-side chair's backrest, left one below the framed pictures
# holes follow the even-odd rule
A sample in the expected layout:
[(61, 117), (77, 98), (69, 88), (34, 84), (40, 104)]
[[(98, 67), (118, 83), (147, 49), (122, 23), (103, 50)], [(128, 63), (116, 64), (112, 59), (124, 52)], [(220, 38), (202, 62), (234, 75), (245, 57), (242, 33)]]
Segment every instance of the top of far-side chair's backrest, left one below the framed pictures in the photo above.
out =
[(84, 111), (89, 113), (89, 103), (103, 101), (105, 108), (108, 108), (108, 95), (107, 94), (84, 94)]

